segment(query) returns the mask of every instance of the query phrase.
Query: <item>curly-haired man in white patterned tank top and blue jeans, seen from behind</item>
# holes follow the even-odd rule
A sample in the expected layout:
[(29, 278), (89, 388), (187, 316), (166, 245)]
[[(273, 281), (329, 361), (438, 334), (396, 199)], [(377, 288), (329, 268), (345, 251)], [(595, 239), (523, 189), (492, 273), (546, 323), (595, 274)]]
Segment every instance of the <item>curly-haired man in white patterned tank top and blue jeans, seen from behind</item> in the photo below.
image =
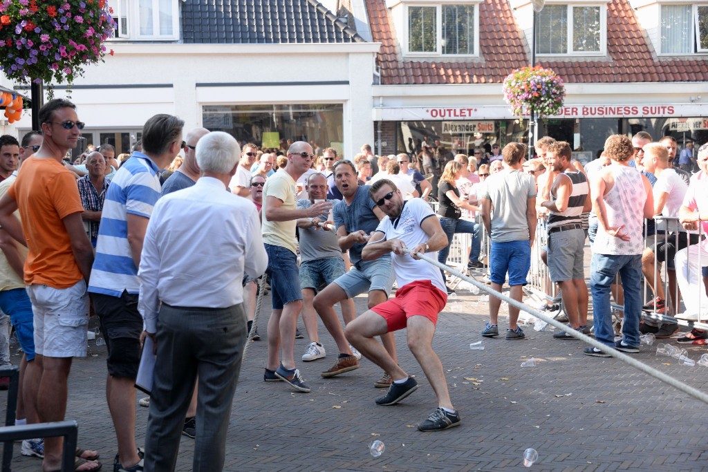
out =
[[(590, 265), (595, 339), (619, 351), (636, 353), (639, 352), (644, 218), (653, 215), (653, 196), (646, 175), (629, 166), (634, 148), (628, 137), (614, 134), (607, 138), (605, 154), (612, 163), (593, 178), (590, 191), (599, 223)], [(622, 339), (615, 343), (610, 285), (618, 272), (624, 287), (624, 324)], [(596, 347), (586, 347), (583, 352), (589, 356), (610, 357)]]

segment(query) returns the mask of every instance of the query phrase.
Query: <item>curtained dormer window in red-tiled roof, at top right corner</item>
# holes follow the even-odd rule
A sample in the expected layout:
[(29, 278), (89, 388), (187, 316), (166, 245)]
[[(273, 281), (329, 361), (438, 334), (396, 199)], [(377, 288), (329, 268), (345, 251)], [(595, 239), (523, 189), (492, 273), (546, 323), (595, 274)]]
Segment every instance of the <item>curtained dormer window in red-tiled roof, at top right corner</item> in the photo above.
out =
[(661, 6), (661, 54), (708, 52), (708, 4)]

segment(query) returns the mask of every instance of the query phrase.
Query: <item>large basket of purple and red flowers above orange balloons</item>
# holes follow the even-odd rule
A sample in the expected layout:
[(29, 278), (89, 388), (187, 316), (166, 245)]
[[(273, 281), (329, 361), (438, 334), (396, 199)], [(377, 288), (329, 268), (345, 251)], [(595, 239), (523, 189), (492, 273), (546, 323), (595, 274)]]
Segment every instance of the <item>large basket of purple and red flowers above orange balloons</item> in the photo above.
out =
[(106, 0), (0, 0), (0, 69), (20, 84), (71, 85), (103, 62), (114, 25)]

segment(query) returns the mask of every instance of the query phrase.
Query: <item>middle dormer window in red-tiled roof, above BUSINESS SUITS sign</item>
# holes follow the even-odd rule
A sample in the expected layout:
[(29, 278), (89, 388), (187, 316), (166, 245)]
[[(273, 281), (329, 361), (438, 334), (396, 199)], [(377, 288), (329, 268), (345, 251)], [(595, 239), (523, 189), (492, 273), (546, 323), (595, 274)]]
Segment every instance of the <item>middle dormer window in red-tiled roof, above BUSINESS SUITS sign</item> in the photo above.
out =
[(604, 5), (546, 5), (536, 15), (536, 54), (605, 54)]

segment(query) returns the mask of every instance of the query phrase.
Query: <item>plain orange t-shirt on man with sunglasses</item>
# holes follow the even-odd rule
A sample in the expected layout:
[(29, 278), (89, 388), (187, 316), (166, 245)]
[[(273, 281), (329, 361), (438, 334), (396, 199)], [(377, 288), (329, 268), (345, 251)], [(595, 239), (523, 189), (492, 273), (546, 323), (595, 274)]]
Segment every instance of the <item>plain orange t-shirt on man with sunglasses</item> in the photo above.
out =
[(25, 284), (65, 289), (84, 278), (62, 221), (69, 214), (84, 212), (74, 175), (54, 159), (30, 156), (8, 195), (17, 202), (29, 249)]

